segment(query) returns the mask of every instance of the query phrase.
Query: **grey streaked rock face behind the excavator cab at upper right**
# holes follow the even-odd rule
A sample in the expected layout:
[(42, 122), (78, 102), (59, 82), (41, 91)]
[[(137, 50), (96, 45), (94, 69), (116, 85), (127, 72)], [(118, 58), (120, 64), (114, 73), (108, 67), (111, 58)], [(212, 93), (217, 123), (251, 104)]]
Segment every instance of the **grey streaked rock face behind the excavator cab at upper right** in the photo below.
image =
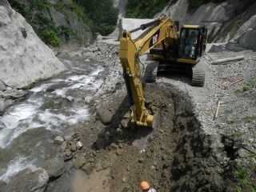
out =
[(208, 42), (227, 42), (240, 36), (248, 28), (256, 25), (256, 3), (255, 1), (229, 0), (222, 3), (207, 3), (191, 10), (186, 0), (178, 0), (166, 6), (161, 14), (174, 21), (179, 21), (180, 26), (184, 24), (196, 24), (208, 28)]

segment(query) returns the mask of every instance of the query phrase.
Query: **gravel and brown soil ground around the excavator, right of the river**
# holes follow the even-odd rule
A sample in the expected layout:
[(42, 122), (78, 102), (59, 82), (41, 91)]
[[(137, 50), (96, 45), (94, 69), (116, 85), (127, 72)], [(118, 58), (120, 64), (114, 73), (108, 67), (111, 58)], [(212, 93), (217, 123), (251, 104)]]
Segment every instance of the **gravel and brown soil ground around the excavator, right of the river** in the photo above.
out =
[[(238, 55), (245, 59), (210, 64)], [(157, 82), (145, 84), (147, 109), (160, 111), (155, 130), (130, 124), (118, 42), (94, 42), (70, 56), (104, 63), (106, 78), (86, 97), (95, 113), (70, 137), (59, 138), (55, 162), (65, 162), (62, 176), (56, 180), (45, 164), (46, 191), (140, 191), (142, 180), (158, 191), (255, 189), (254, 51), (206, 54), (203, 87), (190, 86), (186, 74), (159, 74)], [(151, 63), (147, 55), (142, 61)], [(226, 89), (218, 86), (239, 78), (244, 79)]]

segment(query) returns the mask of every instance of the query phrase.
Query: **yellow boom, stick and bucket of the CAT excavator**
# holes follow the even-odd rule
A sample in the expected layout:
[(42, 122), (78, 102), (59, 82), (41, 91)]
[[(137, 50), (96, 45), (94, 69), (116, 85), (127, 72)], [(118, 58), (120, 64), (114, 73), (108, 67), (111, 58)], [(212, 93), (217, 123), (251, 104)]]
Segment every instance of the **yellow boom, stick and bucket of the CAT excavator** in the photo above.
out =
[[(131, 33), (137, 30), (146, 30), (138, 38), (132, 39)], [(126, 82), (126, 90), (130, 105), (133, 106), (131, 122), (138, 126), (153, 127), (155, 116), (150, 115), (146, 110), (146, 100), (142, 88), (142, 74), (145, 67), (141, 70), (139, 56), (157, 46), (171, 45), (178, 39), (174, 21), (170, 18), (158, 18), (153, 22), (122, 32), (120, 38), (120, 61), (122, 63), (123, 78)], [(162, 43), (162, 44), (160, 44)], [(175, 46), (172, 46), (175, 47)]]

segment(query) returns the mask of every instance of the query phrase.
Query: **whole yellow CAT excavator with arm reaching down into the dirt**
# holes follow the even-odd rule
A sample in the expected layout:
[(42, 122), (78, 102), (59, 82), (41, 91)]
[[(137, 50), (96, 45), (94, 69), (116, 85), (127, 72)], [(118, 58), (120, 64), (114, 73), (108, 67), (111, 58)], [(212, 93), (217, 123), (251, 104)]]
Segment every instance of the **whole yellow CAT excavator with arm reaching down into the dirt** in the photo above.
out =
[[(205, 82), (205, 70), (200, 58), (206, 50), (207, 28), (183, 25), (180, 32), (178, 28), (179, 22), (162, 15), (134, 30), (122, 31), (119, 58), (130, 106), (133, 106), (131, 122), (137, 126), (153, 127), (156, 118), (156, 114), (151, 115), (146, 110), (142, 76), (145, 82), (155, 82), (158, 72), (178, 70), (192, 74), (192, 86), (203, 86)], [(131, 34), (138, 30), (145, 31), (138, 38), (131, 38)], [(195, 39), (191, 41), (190, 38)], [(139, 58), (148, 51), (152, 58), (159, 60), (158, 67), (153, 70), (146, 70)]]

